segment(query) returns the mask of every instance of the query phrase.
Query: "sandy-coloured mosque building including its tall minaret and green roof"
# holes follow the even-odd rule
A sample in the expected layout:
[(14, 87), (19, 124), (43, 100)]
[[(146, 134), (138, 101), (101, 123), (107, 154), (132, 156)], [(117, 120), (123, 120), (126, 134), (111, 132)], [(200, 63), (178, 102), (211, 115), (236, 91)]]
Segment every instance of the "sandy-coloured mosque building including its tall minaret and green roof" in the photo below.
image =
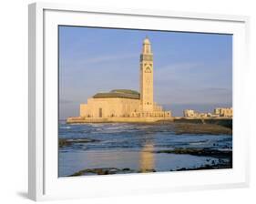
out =
[[(128, 118), (127, 121), (137, 121), (136, 118), (171, 117), (170, 111), (154, 102), (153, 87), (153, 53), (151, 44), (146, 37), (143, 41), (140, 55), (140, 92), (130, 89), (115, 89), (107, 93), (97, 93), (87, 99), (87, 104), (80, 104), (80, 117), (68, 117), (67, 122), (93, 121), (93, 118), (118, 121), (118, 118)], [(112, 118), (112, 119), (111, 119)], [(114, 119), (115, 118), (115, 119)]]

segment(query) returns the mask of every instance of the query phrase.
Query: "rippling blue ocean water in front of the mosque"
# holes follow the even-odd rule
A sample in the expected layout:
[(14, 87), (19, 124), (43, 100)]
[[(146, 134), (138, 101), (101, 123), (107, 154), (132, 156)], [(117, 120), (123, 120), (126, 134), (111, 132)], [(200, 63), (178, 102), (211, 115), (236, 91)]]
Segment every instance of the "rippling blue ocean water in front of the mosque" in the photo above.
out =
[[(59, 148), (59, 177), (89, 168), (129, 168), (135, 172), (143, 169), (159, 172), (200, 168), (223, 163), (226, 158), (158, 151), (174, 148), (232, 149), (232, 137), (229, 135), (176, 135), (172, 124), (70, 125), (60, 121), (59, 138), (77, 141)], [(88, 142), (78, 142), (81, 138), (87, 138)]]

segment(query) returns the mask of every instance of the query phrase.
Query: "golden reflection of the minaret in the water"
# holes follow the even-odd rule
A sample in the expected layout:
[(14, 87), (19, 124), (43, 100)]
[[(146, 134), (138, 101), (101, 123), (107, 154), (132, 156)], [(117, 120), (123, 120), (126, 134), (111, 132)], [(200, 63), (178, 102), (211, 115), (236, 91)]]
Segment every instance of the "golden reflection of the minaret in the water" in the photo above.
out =
[(140, 151), (139, 167), (141, 172), (152, 171), (155, 168), (154, 145), (147, 142)]

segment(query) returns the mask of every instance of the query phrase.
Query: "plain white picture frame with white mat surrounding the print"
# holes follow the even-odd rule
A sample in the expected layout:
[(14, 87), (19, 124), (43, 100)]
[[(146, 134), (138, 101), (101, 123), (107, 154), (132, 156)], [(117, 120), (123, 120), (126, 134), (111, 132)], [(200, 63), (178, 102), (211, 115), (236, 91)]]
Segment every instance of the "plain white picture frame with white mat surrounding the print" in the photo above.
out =
[[(249, 185), (246, 100), (249, 17), (35, 3), (29, 12), (30, 199), (74, 199)], [(103, 177), (57, 177), (57, 25), (233, 35), (233, 168)], [(124, 185), (125, 184), (125, 185)]]

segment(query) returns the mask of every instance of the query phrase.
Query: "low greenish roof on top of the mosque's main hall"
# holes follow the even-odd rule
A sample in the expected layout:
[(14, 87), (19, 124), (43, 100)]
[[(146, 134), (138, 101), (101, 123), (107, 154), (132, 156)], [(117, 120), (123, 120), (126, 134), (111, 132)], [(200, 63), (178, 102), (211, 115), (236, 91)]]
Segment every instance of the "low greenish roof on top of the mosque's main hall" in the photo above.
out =
[(97, 93), (94, 98), (121, 97), (130, 99), (139, 99), (139, 93), (130, 89), (114, 89), (107, 93)]

